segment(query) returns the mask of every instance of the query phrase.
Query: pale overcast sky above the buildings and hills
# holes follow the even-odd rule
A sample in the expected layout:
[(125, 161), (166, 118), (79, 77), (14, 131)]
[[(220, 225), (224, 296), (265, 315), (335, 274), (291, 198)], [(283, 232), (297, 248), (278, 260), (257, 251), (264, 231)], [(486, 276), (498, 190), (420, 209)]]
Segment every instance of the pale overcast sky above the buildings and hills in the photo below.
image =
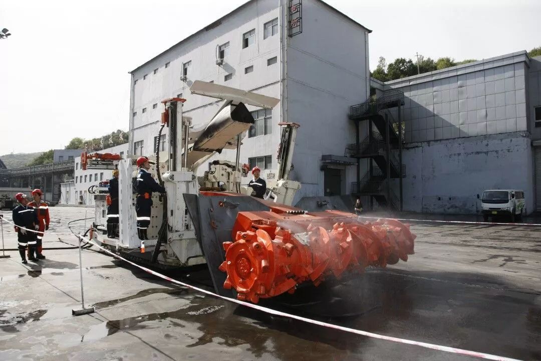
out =
[[(128, 71), (245, 2), (0, 0), (12, 34), (0, 40), (0, 155), (128, 130)], [(539, 0), (326, 2), (373, 31), (372, 70), (380, 56), (480, 60), (541, 46)]]

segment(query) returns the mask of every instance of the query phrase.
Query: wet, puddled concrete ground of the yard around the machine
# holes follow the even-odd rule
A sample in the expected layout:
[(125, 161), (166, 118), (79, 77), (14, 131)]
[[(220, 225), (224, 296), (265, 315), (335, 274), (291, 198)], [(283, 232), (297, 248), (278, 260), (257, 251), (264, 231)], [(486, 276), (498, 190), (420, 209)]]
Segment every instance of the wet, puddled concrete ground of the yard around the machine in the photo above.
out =
[[(51, 230), (67, 233), (84, 212), (51, 208)], [(11, 248), (14, 233), (4, 231)], [(304, 288), (272, 306), (388, 336), (541, 359), (541, 228), (419, 223), (412, 231), (408, 262)], [(52, 234), (44, 240), (69, 247)], [(269, 316), (90, 250), (85, 302), (96, 312), (72, 317), (81, 307), (77, 250), (44, 251), (47, 260), (26, 266), (8, 253), (0, 259), (0, 360), (471, 359)], [(183, 279), (210, 284), (204, 271)]]

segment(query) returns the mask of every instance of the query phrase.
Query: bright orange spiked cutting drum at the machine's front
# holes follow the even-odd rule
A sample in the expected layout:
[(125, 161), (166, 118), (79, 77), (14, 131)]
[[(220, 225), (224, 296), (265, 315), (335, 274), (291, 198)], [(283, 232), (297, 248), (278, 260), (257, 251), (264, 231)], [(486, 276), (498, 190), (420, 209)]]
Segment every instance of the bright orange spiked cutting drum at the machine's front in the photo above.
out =
[(397, 220), (363, 223), (337, 211), (239, 212), (233, 239), (223, 243), (223, 287), (234, 288), (240, 300), (257, 303), (293, 293), (306, 281), (317, 286), (344, 272), (407, 261), (415, 235)]

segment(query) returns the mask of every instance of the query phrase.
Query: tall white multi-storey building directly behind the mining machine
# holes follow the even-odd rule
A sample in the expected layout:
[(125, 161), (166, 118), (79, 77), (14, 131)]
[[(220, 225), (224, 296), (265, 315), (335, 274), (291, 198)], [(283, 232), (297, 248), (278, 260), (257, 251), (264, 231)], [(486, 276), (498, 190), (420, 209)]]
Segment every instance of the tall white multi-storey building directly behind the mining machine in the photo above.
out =
[[(343, 156), (355, 140), (348, 109), (369, 95), (371, 30), (321, 0), (289, 5), (285, 0), (248, 1), (131, 71), (130, 154), (154, 154), (164, 99), (183, 97), (184, 115), (196, 127), (208, 122), (218, 103), (190, 94), (189, 86), (195, 80), (215, 82), (280, 99), (272, 110), (248, 106), (256, 123), (243, 140), (241, 162), (258, 165), (263, 178), (272, 179), (278, 123), (296, 122), (301, 127), (291, 178), (302, 183), (296, 200), (348, 194), (357, 168), (332, 162), (321, 167), (321, 160), (322, 155)], [(225, 150), (210, 161), (234, 161), (234, 153)], [(85, 190), (78, 188), (83, 199)]]

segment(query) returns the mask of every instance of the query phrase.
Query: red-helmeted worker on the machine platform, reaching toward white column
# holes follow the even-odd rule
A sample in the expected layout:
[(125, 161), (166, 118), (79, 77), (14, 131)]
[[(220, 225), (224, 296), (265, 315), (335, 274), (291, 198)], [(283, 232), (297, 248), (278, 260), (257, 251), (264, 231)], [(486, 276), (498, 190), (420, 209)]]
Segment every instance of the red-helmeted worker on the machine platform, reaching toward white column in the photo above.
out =
[(152, 208), (152, 192), (166, 193), (166, 189), (159, 185), (148, 172), (153, 162), (148, 161), (148, 157), (142, 156), (137, 159), (136, 189), (137, 198), (135, 200), (135, 212), (137, 213), (137, 235), (140, 240), (146, 240), (147, 229), (150, 225), (150, 211)]

